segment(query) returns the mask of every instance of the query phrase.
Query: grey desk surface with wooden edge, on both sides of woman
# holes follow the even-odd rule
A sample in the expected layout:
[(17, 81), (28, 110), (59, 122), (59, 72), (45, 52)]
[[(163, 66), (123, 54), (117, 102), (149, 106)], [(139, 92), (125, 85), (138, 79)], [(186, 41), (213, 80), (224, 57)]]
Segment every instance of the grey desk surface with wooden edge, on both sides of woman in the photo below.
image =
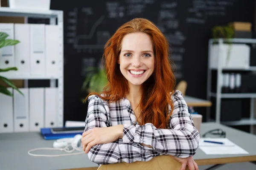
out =
[[(223, 164), (239, 161), (256, 161), (256, 136), (245, 133), (224, 125), (203, 123), (201, 133), (208, 130), (221, 128), (226, 131), (227, 138), (244, 148), (249, 154), (241, 155), (206, 155), (198, 148), (194, 156), (198, 165)], [(40, 133), (2, 133), (0, 134), (0, 169), (1, 170), (48, 170), (71, 169), (81, 167), (97, 167), (98, 165), (88, 159), (87, 154), (60, 156), (60, 157), (35, 157), (27, 152), (38, 147), (52, 147), (54, 140), (44, 140)], [(63, 154), (61, 151), (42, 150), (38, 154)]]

